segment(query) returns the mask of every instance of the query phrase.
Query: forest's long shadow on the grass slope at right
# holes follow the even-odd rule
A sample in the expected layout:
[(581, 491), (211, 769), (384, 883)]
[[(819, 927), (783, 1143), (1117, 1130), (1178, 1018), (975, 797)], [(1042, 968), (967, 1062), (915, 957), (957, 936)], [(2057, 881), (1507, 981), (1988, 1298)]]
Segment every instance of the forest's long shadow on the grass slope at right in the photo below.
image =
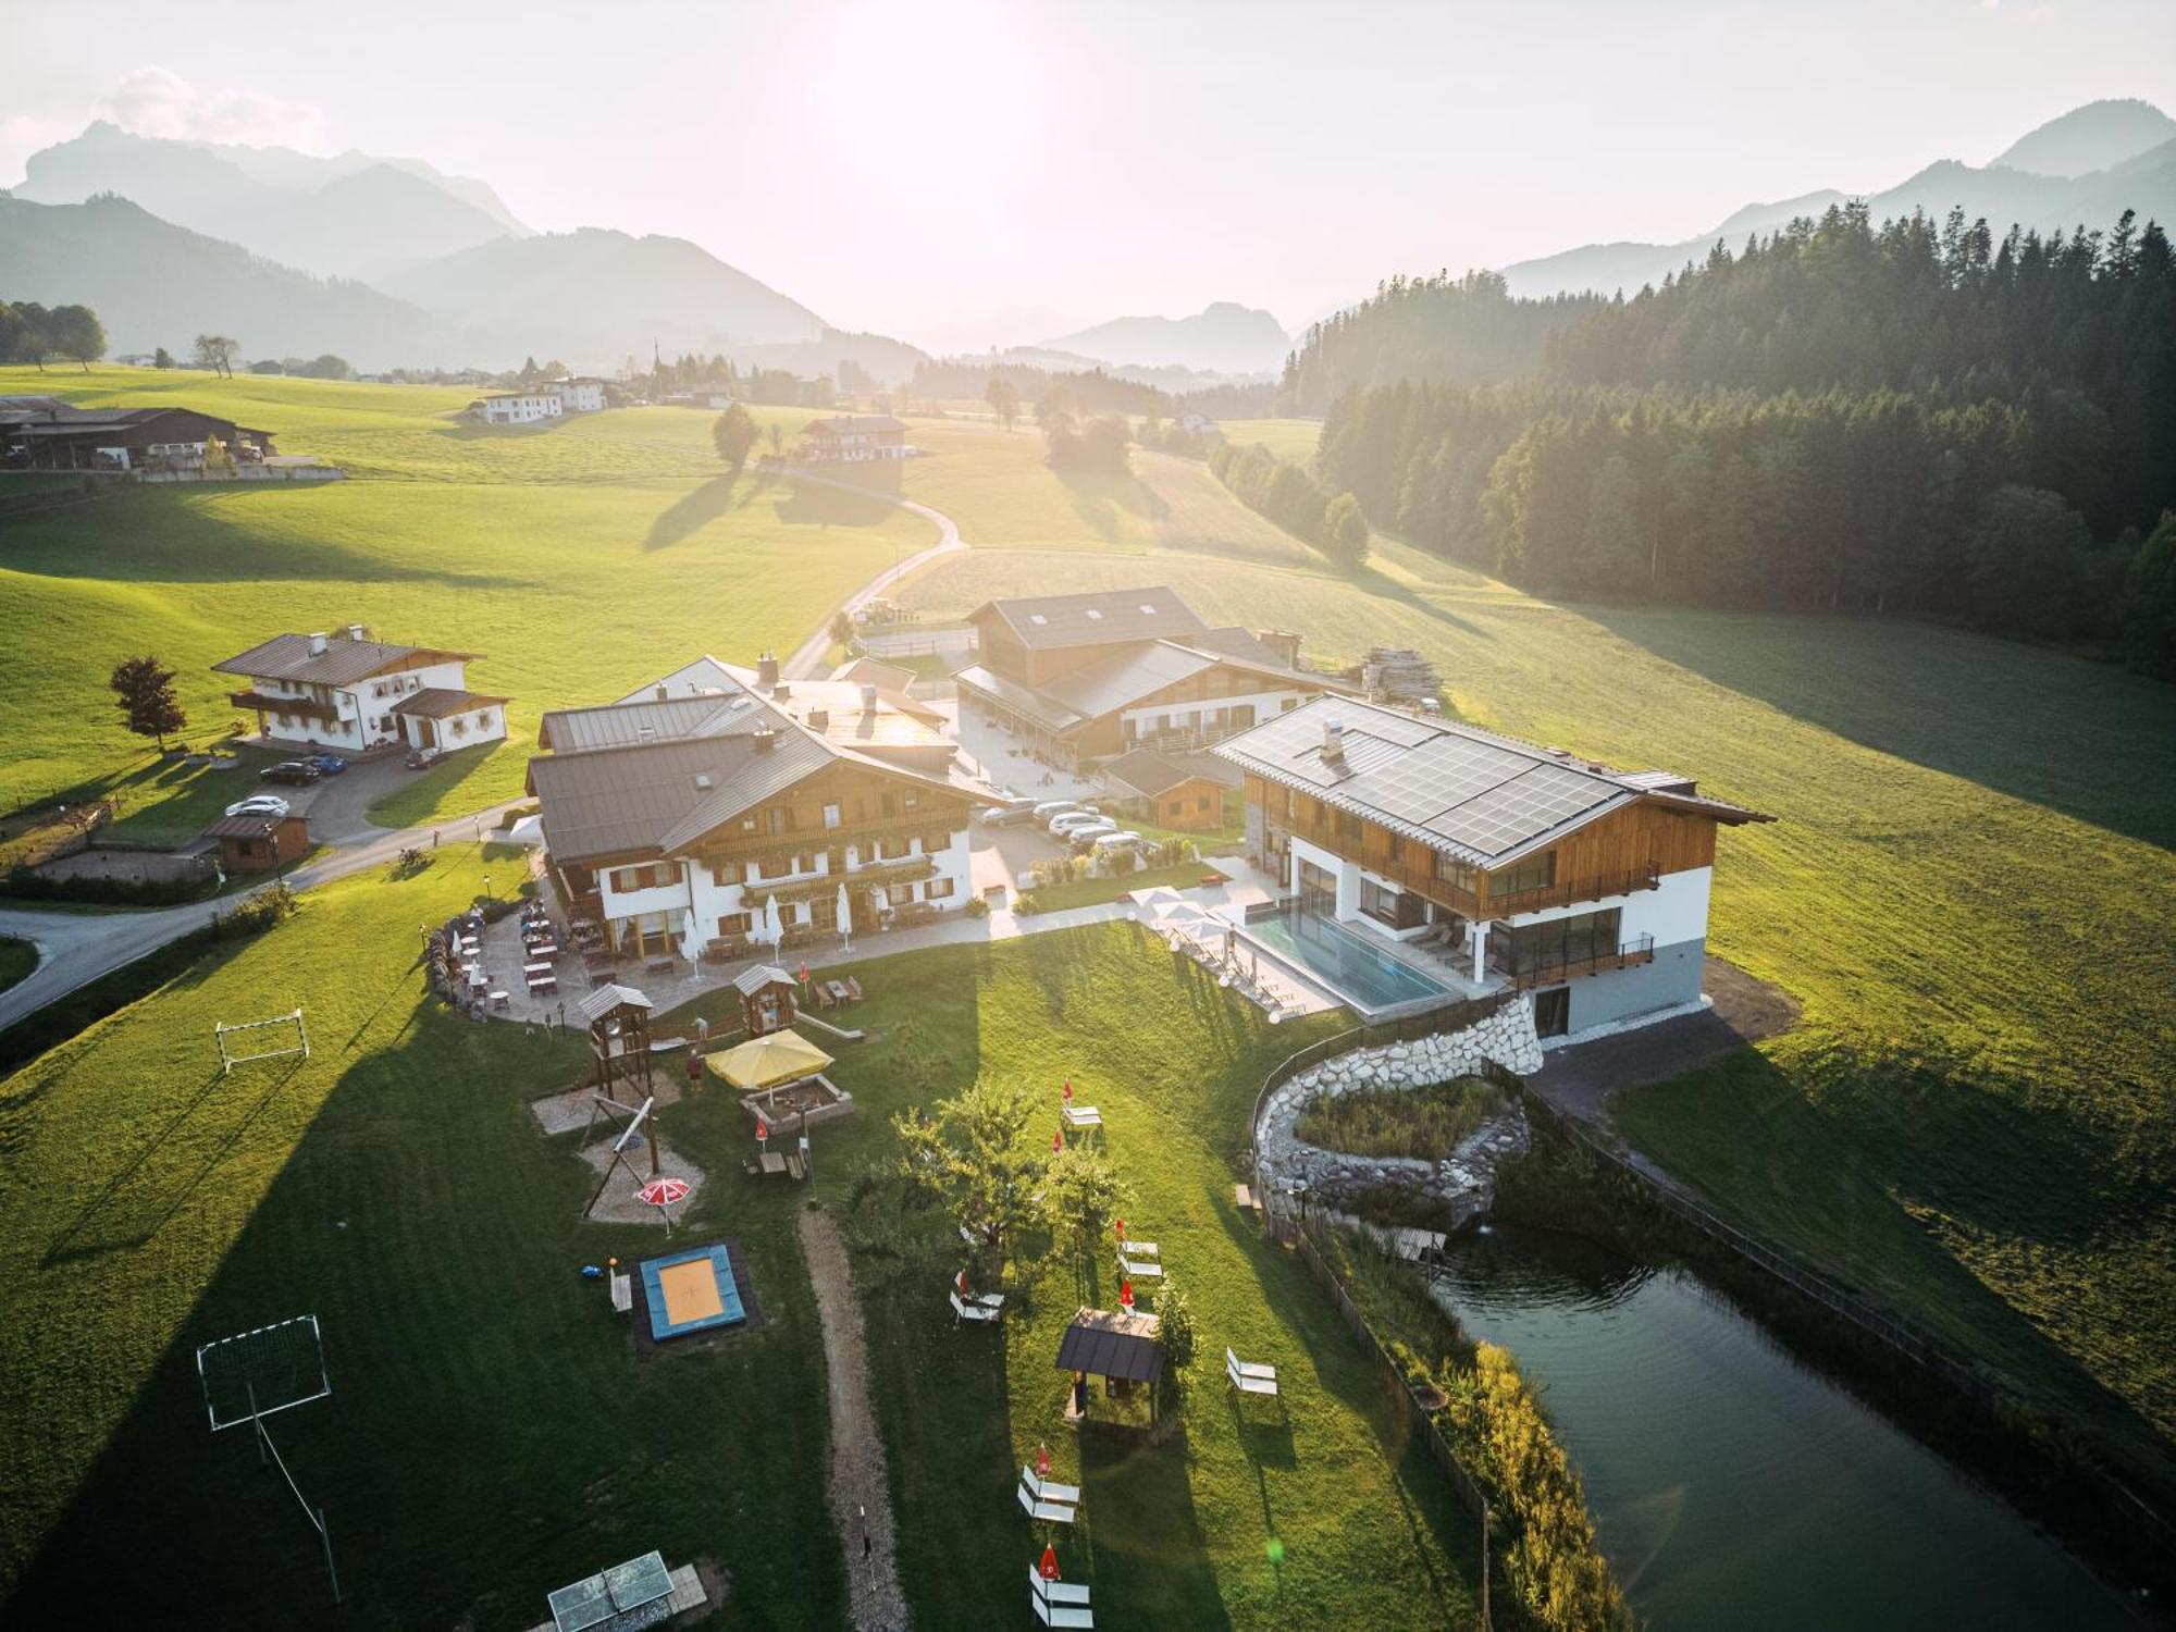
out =
[(2176, 846), (2176, 690), (1993, 635), (1882, 618), (1582, 607), (1621, 640), (1878, 753)]

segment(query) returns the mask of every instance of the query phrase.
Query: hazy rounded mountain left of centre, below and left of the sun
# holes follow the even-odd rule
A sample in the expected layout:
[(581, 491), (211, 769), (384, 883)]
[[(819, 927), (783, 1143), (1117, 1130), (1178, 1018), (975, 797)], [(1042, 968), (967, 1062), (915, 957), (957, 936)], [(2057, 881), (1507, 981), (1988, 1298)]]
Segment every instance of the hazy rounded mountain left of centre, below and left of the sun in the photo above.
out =
[[(601, 226), (498, 237), (381, 279), (448, 326), (474, 329), (522, 355), (603, 370), (675, 353), (814, 342), (825, 322), (683, 237), (631, 237)], [(494, 353), (498, 355), (498, 353)]]

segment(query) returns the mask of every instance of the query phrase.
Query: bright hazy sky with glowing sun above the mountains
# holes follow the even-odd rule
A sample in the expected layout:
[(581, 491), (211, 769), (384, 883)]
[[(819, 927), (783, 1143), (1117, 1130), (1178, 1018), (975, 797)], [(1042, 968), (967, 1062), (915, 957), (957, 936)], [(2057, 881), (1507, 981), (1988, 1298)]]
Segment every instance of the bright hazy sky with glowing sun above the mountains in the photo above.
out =
[(944, 350), (1676, 242), (2176, 113), (2176, 0), (0, 0), (0, 185), (109, 118), (481, 176)]

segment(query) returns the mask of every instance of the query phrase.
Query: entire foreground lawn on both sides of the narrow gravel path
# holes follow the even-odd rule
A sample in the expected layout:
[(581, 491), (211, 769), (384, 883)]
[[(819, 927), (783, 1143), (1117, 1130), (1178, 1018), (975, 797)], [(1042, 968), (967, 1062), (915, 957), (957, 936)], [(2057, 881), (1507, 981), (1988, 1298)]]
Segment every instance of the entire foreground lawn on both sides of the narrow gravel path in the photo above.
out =
[[(820, 1334), (792, 1240), (809, 1192), (738, 1173), (751, 1127), (722, 1092), (666, 1112), (668, 1138), (714, 1173), (681, 1238), (742, 1240), (766, 1325), (633, 1358), (577, 1271), (662, 1236), (579, 1223), (588, 1169), (527, 1110), (581, 1049), (422, 1001), (413, 927), (466, 901), (487, 864), (448, 846), (413, 879), (316, 890), (298, 918), (183, 966), (0, 1090), (11, 1623), (72, 1619), (85, 1580), (113, 1623), (176, 1602), (215, 1604), (228, 1625), (322, 1623), (311, 1534), (246, 1436), (207, 1432), (191, 1364), (211, 1336), (302, 1312), (324, 1323), (333, 1397), (276, 1432), (326, 1506), (359, 1625), (522, 1628), (551, 1586), (648, 1547), (731, 1573), (720, 1625), (844, 1619)], [(860, 1242), (918, 1621), (1021, 1608), (1036, 1543), (1010, 1480), (1047, 1438), (1090, 1488), (1068, 1575), (1114, 1615), (1462, 1623), (1471, 1536), (1449, 1495), (1386, 1447), (1334, 1312), (1229, 1208), (1253, 1090), (1310, 1029), (1271, 1031), (1129, 927), (860, 977), (875, 1042), (833, 1073), (860, 1114), (818, 1129), (814, 1195)], [(311, 1058), (222, 1077), (213, 1021), (294, 1001)], [(1201, 1316), (1182, 1443), (1090, 1436), (1081, 1469), (1058, 1425), (1051, 1351), (1075, 1301), (1112, 1297), (1099, 1256), (1079, 1284), (1066, 1258), (1044, 1262), (1001, 1332), (955, 1332), (940, 1225), (868, 1232), (844, 1206), (890, 1112), (981, 1071), (1073, 1073), (1103, 1105), (1136, 1234), (1162, 1238)], [(1225, 1340), (1286, 1369), (1288, 1419), (1232, 1414), (1208, 1364)]]

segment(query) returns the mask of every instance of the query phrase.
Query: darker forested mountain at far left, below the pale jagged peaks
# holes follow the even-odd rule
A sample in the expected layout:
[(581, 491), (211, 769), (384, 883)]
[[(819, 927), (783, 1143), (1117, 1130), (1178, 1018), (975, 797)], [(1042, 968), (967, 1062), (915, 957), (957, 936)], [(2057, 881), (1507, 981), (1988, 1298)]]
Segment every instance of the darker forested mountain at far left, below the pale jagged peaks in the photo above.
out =
[[(98, 311), (113, 353), (226, 333), (244, 357), (337, 353), (357, 368), (461, 361), (457, 335), (361, 283), (316, 279), (191, 233), (126, 198), (39, 205), (0, 194), (0, 289)], [(518, 361), (518, 359), (516, 359)]]

